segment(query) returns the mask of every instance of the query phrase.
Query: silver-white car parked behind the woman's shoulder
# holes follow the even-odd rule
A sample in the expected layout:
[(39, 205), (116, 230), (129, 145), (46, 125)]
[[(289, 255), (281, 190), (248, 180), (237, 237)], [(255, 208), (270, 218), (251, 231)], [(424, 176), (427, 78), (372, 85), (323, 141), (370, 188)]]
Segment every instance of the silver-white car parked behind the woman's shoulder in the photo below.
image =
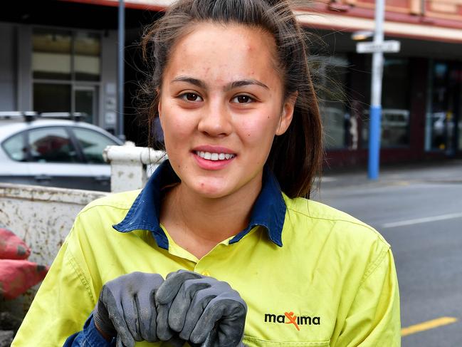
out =
[(0, 182), (110, 191), (103, 150), (123, 142), (95, 125), (57, 119), (62, 117), (0, 112)]

